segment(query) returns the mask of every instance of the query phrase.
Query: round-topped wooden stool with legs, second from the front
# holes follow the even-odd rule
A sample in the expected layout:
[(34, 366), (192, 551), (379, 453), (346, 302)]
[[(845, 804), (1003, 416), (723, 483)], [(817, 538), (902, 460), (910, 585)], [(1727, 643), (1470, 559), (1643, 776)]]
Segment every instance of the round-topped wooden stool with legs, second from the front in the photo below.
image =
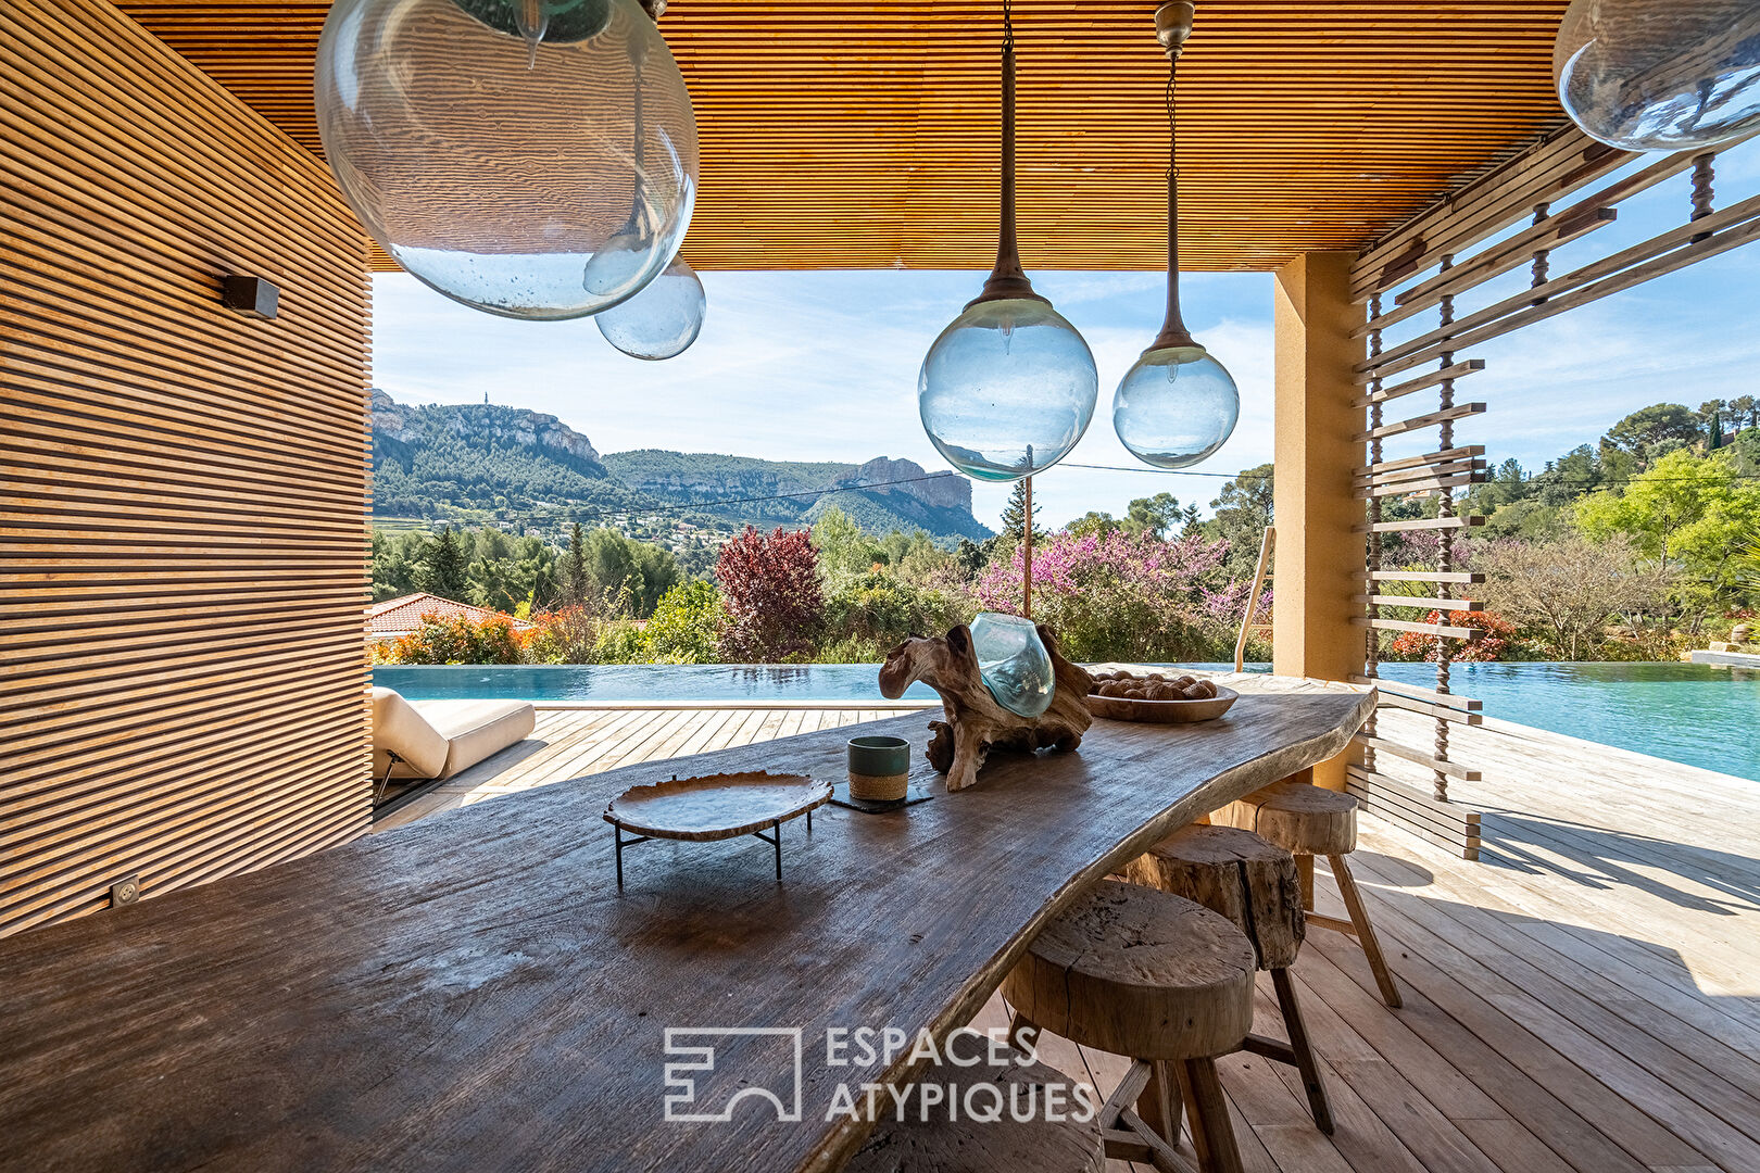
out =
[(1253, 1027), (1253, 946), (1227, 918), (1102, 879), (1038, 934), (1003, 997), (1010, 1031), (1040, 1027), (1133, 1060), (1100, 1110), (1107, 1157), (1190, 1169), (1174, 1148), (1179, 1089), (1204, 1173), (1241, 1173), (1214, 1059)]

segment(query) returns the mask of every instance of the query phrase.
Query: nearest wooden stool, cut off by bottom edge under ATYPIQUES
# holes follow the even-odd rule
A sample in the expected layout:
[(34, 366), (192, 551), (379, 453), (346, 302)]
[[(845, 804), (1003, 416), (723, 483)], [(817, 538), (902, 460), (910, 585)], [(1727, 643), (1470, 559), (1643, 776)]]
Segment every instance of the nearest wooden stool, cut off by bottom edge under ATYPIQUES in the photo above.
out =
[[(952, 1045), (952, 1043), (950, 1043)], [(963, 1059), (966, 1055), (961, 1055)], [(936, 1083), (947, 1099), (924, 1110), (915, 1096), (924, 1083)], [(1001, 1118), (989, 1120), (996, 1097), (968, 1089), (987, 1083), (1001, 1094)], [(1030, 1090), (1019, 1092), (1016, 1089)], [(1045, 1087), (1072, 1087), (1061, 1071), (1035, 1064), (986, 1062), (961, 1067), (942, 1064), (929, 1069), (922, 1083), (905, 1097), (903, 1120), (882, 1118), (868, 1143), (843, 1166), (845, 1173), (1104, 1173), (1105, 1145), (1100, 1141), (1100, 1117), (1077, 1122), (1082, 1104), (1061, 1096), (1058, 1111), (1045, 1111)], [(1033, 1096), (1033, 1118), (1017, 1120), (1010, 1097)], [(949, 1103), (952, 1101), (952, 1103)], [(892, 1099), (882, 1096), (889, 1106)], [(975, 1104), (984, 1118), (973, 1120)], [(928, 1115), (928, 1118), (924, 1118)]]

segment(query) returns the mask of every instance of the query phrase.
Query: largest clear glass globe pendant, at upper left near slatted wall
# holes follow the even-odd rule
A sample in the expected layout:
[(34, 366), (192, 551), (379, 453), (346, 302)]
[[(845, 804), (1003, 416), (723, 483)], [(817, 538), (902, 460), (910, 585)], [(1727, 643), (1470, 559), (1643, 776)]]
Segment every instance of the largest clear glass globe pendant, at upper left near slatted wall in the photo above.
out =
[(598, 313), (658, 276), (690, 227), (697, 121), (644, 4), (336, 0), (319, 132), (368, 234), (512, 318)]

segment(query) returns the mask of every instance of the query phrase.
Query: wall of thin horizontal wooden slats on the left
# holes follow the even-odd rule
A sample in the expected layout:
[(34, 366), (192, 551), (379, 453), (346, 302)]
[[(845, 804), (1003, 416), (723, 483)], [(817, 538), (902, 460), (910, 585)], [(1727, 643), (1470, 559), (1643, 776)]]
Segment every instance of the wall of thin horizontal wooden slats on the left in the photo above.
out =
[(113, 5), (0, 5), (0, 934), (366, 830), (366, 264)]

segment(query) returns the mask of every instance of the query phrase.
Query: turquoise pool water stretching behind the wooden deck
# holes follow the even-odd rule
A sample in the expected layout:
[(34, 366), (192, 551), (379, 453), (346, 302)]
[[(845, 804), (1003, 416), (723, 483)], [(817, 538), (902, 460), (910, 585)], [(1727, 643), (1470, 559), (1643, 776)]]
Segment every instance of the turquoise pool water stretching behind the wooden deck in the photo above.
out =
[[(412, 700), (878, 700), (876, 674), (878, 665), (449, 665), (373, 668), (373, 684)], [(1429, 688), (1436, 668), (1382, 665), (1382, 675)], [(1452, 688), (1484, 700), (1492, 718), (1760, 779), (1760, 672), (1686, 663), (1464, 663), (1454, 667)], [(924, 684), (905, 695), (935, 698)]]

